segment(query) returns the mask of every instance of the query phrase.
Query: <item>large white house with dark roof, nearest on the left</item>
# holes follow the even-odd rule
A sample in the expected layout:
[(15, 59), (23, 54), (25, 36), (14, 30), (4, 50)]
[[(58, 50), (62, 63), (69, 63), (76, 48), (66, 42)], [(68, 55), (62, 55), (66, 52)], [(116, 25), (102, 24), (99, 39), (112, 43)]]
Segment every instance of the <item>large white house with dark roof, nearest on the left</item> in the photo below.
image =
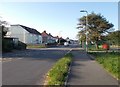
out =
[(41, 34), (33, 28), (26, 27), (24, 25), (11, 25), (7, 32), (7, 37), (19, 38), (19, 41), (26, 44), (41, 44)]

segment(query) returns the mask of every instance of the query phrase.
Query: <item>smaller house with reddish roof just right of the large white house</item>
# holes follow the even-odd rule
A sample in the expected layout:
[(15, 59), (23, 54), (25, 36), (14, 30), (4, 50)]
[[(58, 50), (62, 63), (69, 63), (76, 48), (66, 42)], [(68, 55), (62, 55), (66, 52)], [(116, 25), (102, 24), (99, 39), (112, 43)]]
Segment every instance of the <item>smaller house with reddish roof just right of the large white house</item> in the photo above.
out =
[(43, 31), (41, 33), (42, 35), (42, 43), (55, 43), (56, 39), (49, 33), (47, 33), (46, 31)]

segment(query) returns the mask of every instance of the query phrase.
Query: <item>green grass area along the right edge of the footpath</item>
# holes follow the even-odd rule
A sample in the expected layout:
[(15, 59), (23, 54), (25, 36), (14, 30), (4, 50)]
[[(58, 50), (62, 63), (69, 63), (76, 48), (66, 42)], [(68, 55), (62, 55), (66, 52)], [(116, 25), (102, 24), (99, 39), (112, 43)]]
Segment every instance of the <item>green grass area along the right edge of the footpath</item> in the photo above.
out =
[(107, 71), (109, 71), (115, 78), (120, 79), (120, 60), (119, 52), (91, 52), (96, 61), (98, 61)]

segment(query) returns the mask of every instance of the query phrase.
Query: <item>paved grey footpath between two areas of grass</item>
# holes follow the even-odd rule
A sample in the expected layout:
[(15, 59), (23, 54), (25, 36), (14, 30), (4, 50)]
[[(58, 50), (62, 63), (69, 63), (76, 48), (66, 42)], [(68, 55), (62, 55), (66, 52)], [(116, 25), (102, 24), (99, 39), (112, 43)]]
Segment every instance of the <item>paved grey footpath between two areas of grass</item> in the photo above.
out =
[(118, 81), (91, 60), (83, 51), (72, 51), (74, 55), (67, 85), (118, 85)]

